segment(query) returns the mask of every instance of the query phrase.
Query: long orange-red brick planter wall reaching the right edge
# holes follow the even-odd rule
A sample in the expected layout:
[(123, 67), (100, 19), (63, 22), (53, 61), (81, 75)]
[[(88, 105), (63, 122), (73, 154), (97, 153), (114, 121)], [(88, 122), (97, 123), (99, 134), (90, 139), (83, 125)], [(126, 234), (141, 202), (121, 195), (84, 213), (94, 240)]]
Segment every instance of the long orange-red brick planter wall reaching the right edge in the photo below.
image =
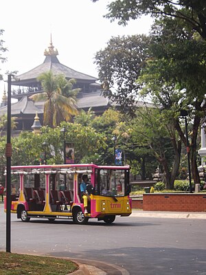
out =
[(143, 210), (148, 211), (206, 211), (206, 194), (144, 194)]

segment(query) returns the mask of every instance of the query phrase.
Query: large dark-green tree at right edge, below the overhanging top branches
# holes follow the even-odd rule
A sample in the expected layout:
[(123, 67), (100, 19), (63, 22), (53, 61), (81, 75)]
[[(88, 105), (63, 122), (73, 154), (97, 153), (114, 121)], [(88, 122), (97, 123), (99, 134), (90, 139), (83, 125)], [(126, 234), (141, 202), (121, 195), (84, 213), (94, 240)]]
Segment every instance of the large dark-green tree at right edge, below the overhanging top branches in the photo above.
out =
[(189, 112), (192, 175), (194, 182), (199, 183), (196, 140), (206, 110), (206, 41), (183, 29), (177, 19), (163, 19), (155, 28), (152, 53), (153, 58), (147, 62), (138, 82), (142, 84), (142, 91), (168, 112), (185, 146), (187, 141), (179, 116), (181, 109)]

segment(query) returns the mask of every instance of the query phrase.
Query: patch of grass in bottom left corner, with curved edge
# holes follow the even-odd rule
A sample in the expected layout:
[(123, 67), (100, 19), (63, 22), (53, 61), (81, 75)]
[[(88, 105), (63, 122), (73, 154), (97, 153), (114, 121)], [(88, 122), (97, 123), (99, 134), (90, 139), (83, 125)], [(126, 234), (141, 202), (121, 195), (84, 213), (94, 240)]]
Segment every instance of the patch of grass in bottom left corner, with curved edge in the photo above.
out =
[(0, 252), (0, 275), (66, 275), (77, 267), (65, 259)]

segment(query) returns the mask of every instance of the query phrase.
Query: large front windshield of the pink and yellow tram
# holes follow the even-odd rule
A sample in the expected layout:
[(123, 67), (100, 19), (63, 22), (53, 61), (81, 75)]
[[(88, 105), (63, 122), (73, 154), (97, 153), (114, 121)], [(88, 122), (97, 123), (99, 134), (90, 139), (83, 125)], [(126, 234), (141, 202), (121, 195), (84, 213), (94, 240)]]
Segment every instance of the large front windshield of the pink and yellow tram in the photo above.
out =
[(95, 192), (106, 197), (128, 195), (128, 170), (95, 169)]

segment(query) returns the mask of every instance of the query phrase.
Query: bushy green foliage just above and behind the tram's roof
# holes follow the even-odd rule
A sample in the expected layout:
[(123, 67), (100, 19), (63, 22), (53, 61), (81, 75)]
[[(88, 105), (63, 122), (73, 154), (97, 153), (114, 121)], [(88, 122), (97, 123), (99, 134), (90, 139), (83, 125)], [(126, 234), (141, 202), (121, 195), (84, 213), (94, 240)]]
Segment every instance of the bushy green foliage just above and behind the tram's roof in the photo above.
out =
[[(42, 135), (22, 132), (19, 137), (12, 138), (12, 165), (32, 165), (43, 163), (45, 152), (47, 164), (63, 163), (63, 135), (60, 132), (65, 126), (66, 142), (75, 144), (75, 161), (85, 159), (98, 162), (100, 148), (105, 148), (104, 133), (97, 133), (89, 126), (62, 122), (56, 129), (47, 126), (42, 128)], [(43, 142), (47, 143), (44, 148)], [(5, 167), (5, 141), (0, 142), (1, 165)]]

